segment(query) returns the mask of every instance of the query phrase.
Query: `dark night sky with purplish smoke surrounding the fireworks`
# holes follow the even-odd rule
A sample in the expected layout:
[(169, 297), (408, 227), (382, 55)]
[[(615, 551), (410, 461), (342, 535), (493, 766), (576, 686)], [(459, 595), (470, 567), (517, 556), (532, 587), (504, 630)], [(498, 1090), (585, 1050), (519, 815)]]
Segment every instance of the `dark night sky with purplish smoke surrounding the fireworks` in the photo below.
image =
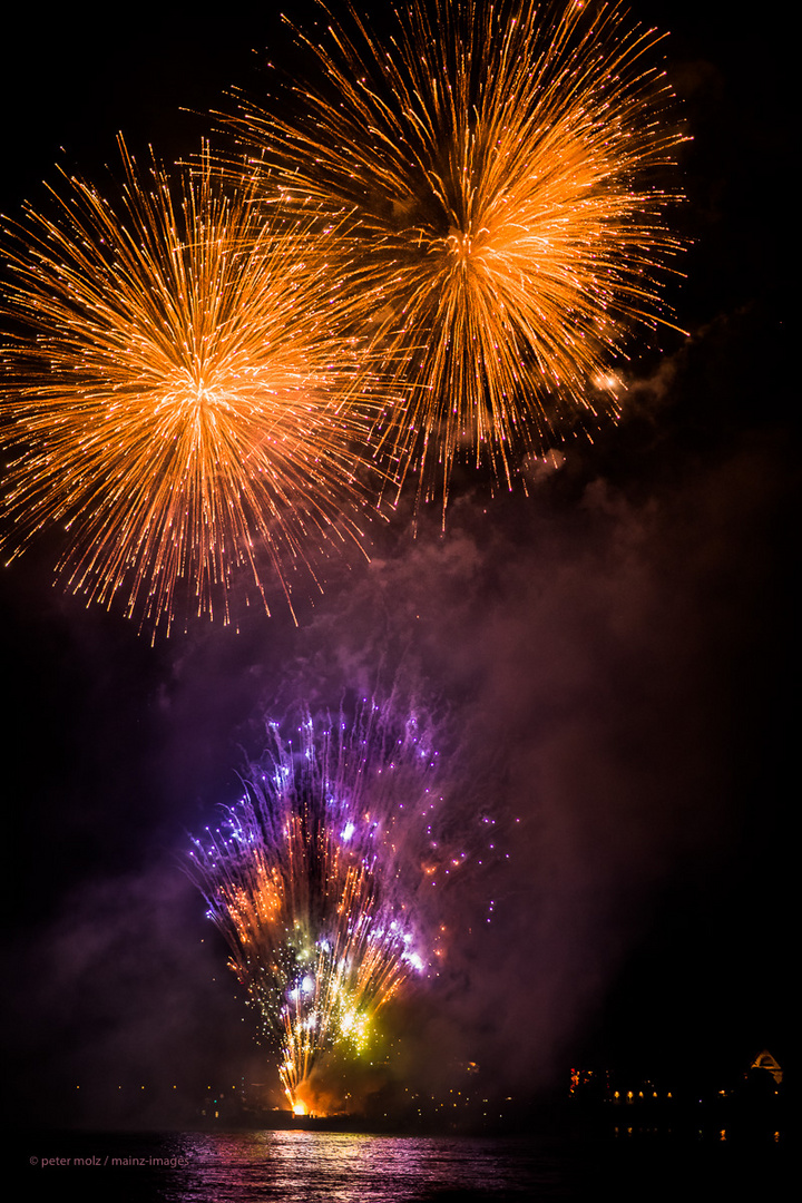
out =
[[(57, 160), (101, 179), (120, 129), (135, 152), (192, 153), (226, 87), (259, 93), (254, 48), (287, 61), (265, 7), (212, 23), (145, 4), (124, 28), (91, 5), (22, 11), (0, 72), (4, 214), (36, 202)], [(0, 575), (18, 1114), (161, 1122), (168, 1084), (192, 1100), (207, 1078), (269, 1072), (176, 858), (236, 799), (273, 699), (335, 704), (398, 663), (471, 749), (453, 774), (473, 782), (467, 828), (481, 790), (521, 819), (476, 887), (493, 924), (455, 940), (436, 1011), (398, 1019), (416, 1029), (410, 1080), (438, 1077), (435, 1042), (446, 1072), (476, 1060), (518, 1092), (576, 1061), (684, 1080), (732, 1078), (764, 1048), (784, 1061), (789, 89), (754, 14), (634, 10), (672, 31), (694, 244), (671, 297), (689, 336), (635, 346), (617, 427), (529, 497), (461, 475), (445, 535), (424, 514), (414, 539), (399, 512), (372, 564), (332, 568), (298, 629), (250, 611), (238, 634), (197, 623), (150, 646), (52, 587), (57, 535)]]

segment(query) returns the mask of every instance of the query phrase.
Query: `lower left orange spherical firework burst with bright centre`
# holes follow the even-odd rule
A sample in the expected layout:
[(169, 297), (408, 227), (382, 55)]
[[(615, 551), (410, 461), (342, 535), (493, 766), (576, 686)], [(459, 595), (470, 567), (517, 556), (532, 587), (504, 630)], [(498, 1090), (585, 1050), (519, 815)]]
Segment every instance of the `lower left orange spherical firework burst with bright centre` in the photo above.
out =
[(70, 179), (53, 217), (6, 231), (4, 541), (66, 526), (67, 587), (155, 633), (179, 582), (228, 621), (234, 577), (267, 608), (267, 583), (290, 600), (296, 565), (358, 544), (372, 398), (337, 326), (332, 223), (266, 219), (208, 154), (171, 185), (121, 150), (119, 203)]

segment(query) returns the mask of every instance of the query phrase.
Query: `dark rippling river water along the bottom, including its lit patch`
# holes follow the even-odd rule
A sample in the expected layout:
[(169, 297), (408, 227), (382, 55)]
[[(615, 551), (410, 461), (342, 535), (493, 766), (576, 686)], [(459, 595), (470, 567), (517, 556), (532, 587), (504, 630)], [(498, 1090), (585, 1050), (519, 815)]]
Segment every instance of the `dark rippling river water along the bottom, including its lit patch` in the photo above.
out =
[[(38, 1133), (19, 1198), (82, 1203), (522, 1203), (770, 1197), (784, 1150), (642, 1138), (344, 1132)], [(733, 1195), (733, 1197), (735, 1197)]]

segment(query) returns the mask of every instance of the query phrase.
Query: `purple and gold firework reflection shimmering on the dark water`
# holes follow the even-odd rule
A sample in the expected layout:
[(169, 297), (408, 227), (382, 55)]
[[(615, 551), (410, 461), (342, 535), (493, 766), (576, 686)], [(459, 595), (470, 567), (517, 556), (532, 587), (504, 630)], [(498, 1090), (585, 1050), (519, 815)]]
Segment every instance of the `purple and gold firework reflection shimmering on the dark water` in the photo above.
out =
[(418, 1203), (424, 1199), (558, 1198), (547, 1166), (507, 1140), (343, 1132), (180, 1133), (185, 1160), (167, 1203)]

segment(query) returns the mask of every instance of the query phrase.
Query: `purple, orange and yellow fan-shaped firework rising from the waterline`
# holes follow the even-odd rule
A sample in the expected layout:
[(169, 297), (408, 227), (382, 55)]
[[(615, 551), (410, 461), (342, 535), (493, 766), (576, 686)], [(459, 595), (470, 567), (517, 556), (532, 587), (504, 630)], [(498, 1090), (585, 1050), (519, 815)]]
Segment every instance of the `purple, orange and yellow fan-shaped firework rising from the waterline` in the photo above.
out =
[(189, 873), (297, 1108), (323, 1053), (364, 1048), (404, 980), (435, 972), (444, 929), (427, 923), (429, 895), (469, 857), (444, 835), (438, 757), (414, 716), (376, 703), (350, 725), (307, 712), (295, 748), (269, 733), (245, 796), (194, 841)]

